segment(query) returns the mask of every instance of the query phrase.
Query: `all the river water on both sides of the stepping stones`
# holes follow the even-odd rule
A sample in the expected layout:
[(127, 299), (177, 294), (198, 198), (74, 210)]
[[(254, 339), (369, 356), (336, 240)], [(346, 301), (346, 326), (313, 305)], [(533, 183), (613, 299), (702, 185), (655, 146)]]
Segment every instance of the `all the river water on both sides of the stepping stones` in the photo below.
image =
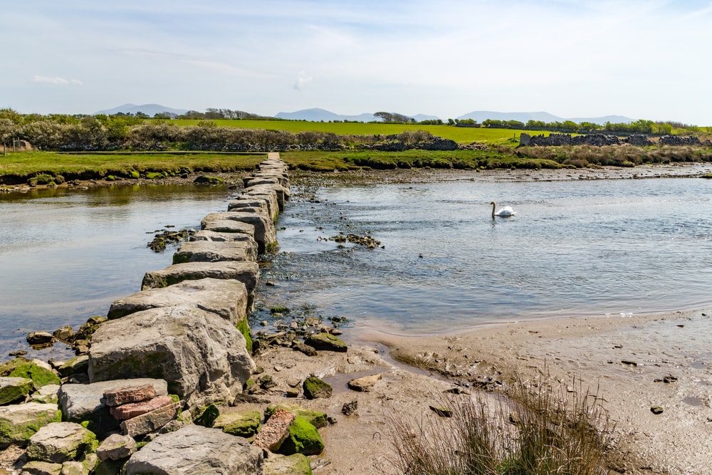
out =
[[(323, 186), (313, 197), (293, 187), (258, 303), (426, 334), (712, 302), (712, 180), (459, 177)], [(29, 331), (105, 315), (171, 263), (172, 249), (147, 249), (154, 231), (197, 227), (230, 199), (225, 187), (177, 185), (0, 195), (0, 357), (27, 349)], [(491, 219), (493, 199), (517, 215)], [(318, 241), (340, 232), (369, 233), (384, 249)]]

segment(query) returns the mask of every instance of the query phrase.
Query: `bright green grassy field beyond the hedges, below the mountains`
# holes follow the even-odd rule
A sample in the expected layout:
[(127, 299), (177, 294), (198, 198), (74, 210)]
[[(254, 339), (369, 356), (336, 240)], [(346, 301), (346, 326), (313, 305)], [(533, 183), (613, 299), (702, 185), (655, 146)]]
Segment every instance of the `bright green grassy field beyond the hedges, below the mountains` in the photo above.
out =
[[(204, 120), (169, 120), (176, 125), (198, 125)], [(532, 130), (488, 129), (476, 127), (454, 127), (452, 125), (420, 124), (382, 124), (363, 122), (303, 122), (300, 120), (214, 120), (219, 127), (241, 127), (244, 129), (286, 130), (287, 132), (332, 132), (337, 135), (392, 135), (405, 130), (425, 130), (437, 137), (454, 140), (458, 143), (482, 142), (504, 144), (519, 142), (522, 132), (530, 135), (550, 132)]]

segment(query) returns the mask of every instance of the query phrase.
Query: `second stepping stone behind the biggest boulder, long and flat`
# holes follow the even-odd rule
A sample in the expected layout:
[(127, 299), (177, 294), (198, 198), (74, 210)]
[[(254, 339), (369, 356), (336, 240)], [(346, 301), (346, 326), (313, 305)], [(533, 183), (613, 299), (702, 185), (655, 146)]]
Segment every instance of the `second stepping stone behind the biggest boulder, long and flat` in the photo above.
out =
[(183, 281), (197, 281), (201, 278), (234, 278), (245, 284), (249, 294), (257, 287), (260, 268), (256, 262), (186, 262), (174, 264), (160, 271), (146, 273), (142, 289), (172, 286)]

